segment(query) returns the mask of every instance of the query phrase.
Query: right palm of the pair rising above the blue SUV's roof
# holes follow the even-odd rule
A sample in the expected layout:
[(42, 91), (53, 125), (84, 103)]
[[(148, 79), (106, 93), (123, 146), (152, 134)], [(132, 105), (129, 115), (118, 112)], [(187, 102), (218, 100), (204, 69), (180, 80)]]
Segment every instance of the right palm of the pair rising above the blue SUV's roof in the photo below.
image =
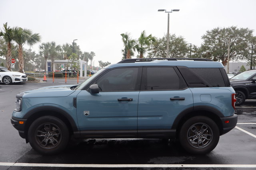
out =
[(143, 58), (144, 54), (146, 53), (146, 48), (155, 41), (156, 37), (152, 36), (151, 34), (146, 36), (146, 31), (142, 31), (140, 37), (138, 38), (138, 45), (136, 45), (140, 58)]

